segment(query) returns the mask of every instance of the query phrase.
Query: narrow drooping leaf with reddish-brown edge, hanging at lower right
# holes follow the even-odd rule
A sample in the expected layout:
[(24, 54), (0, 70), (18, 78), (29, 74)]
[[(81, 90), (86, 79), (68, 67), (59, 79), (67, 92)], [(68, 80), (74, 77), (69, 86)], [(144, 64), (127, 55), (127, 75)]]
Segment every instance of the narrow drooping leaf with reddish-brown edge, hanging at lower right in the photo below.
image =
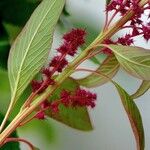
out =
[(144, 150), (144, 146), (145, 146), (144, 129), (143, 129), (143, 123), (142, 123), (140, 111), (136, 106), (136, 104), (134, 103), (133, 99), (128, 95), (128, 93), (122, 87), (120, 87), (116, 82), (113, 83), (119, 92), (123, 106), (127, 112), (136, 139), (137, 150)]

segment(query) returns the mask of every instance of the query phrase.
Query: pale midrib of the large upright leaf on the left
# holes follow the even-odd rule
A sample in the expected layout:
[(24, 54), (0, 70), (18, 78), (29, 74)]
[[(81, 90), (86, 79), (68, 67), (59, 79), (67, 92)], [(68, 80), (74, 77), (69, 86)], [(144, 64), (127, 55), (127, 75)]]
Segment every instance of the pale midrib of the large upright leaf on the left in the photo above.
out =
[(14, 93), (14, 96), (13, 96), (13, 97), (15, 97), (16, 90), (17, 90), (17, 88), (18, 88), (17, 85), (18, 85), (19, 80), (20, 80), (19, 77), (20, 77), (20, 75), (21, 75), (21, 70), (22, 70), (21, 68), (22, 68), (22, 66), (23, 66), (23, 64), (24, 64), (24, 62), (25, 62), (26, 56), (28, 55), (29, 48), (30, 48), (30, 46), (31, 46), (31, 44), (32, 44), (32, 41), (34, 40), (34, 37), (36, 36), (38, 29), (41, 27), (41, 25), (42, 25), (44, 19), (46, 18), (47, 14), (49, 13), (49, 11), (50, 11), (51, 8), (53, 7), (53, 5), (56, 3), (56, 1), (57, 1), (57, 0), (55, 0), (55, 1), (53, 2), (53, 4), (51, 5), (51, 7), (50, 7), (50, 8), (48, 9), (48, 11), (46, 12), (46, 14), (45, 14), (45, 16), (43, 17), (41, 23), (38, 25), (37, 29), (35, 30), (35, 33), (33, 34), (32, 38), (31, 38), (31, 41), (29, 42), (29, 46), (28, 46), (27, 49), (26, 49), (26, 53), (25, 53), (25, 55), (24, 55), (24, 57), (23, 57), (23, 60), (22, 60), (21, 65), (20, 65), (20, 67), (19, 67), (18, 76), (17, 76), (17, 78), (16, 78), (17, 80), (16, 80), (16, 84), (15, 84), (15, 90), (14, 90), (14, 92), (13, 92), (13, 93)]

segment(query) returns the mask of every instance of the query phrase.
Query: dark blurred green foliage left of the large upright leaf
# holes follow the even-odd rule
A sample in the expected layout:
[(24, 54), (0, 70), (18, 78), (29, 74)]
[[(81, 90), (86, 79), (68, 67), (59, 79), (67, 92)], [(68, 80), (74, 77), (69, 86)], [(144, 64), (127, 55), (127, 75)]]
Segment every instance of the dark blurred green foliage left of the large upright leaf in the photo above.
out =
[[(0, 0), (0, 67), (7, 68), (7, 58), (12, 39), (16, 38), (38, 0)], [(18, 28), (18, 29), (17, 29)]]

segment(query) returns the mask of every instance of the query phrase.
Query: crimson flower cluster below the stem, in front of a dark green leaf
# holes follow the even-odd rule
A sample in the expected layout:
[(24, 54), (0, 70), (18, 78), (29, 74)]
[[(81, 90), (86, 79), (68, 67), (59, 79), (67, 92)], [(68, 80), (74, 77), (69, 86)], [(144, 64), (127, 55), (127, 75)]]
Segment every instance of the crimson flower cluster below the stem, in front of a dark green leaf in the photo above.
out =
[(36, 113), (35, 118), (45, 119), (45, 111), (50, 111), (51, 113), (58, 113), (59, 106), (64, 105), (65, 107), (95, 107), (95, 100), (97, 96), (89, 91), (84, 89), (77, 89), (74, 93), (63, 90), (60, 94), (60, 99), (49, 102), (48, 100), (44, 101), (40, 110)]

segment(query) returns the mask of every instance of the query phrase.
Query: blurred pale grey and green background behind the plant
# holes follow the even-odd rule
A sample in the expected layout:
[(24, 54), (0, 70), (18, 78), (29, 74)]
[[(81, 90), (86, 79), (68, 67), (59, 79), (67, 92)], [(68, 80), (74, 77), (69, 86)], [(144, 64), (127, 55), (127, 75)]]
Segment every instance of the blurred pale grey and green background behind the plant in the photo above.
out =
[[(9, 47), (38, 3), (38, 0), (0, 1), (0, 80), (5, 81), (0, 81), (0, 111), (2, 113), (5, 112), (9, 102), (6, 71)], [(105, 0), (67, 0), (64, 14), (55, 31), (52, 49), (59, 46), (62, 34), (73, 27), (85, 28), (88, 32), (87, 43), (92, 41), (104, 24), (104, 10)], [(135, 43), (138, 46), (150, 48), (150, 44), (142, 38), (136, 39)], [(101, 61), (102, 58), (97, 59)], [(85, 62), (82, 66), (97, 67), (91, 61)], [(85, 74), (77, 73), (74, 77), (79, 78), (83, 75)], [(130, 94), (134, 93), (141, 83), (122, 69), (114, 79)], [(52, 119), (46, 119), (45, 121), (32, 121), (18, 129), (19, 136), (31, 140), (40, 150), (135, 150), (132, 129), (113, 85), (107, 83), (91, 90), (98, 95), (95, 109), (89, 110), (94, 126), (93, 131), (77, 131)], [(144, 124), (145, 150), (150, 150), (150, 91), (138, 98), (136, 103)], [(21, 147), (22, 150), (27, 150), (26, 145), (21, 144)]]

